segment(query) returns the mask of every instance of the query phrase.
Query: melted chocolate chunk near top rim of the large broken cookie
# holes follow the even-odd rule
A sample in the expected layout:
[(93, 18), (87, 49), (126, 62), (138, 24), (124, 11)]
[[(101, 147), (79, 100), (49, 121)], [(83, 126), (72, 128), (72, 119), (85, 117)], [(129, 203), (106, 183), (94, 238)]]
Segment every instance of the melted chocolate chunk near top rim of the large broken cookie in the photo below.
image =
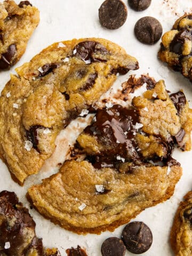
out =
[(106, 62), (107, 54), (109, 52), (100, 43), (95, 41), (83, 41), (77, 44), (74, 48), (73, 55), (84, 61), (89, 60), (90, 63), (96, 62)]

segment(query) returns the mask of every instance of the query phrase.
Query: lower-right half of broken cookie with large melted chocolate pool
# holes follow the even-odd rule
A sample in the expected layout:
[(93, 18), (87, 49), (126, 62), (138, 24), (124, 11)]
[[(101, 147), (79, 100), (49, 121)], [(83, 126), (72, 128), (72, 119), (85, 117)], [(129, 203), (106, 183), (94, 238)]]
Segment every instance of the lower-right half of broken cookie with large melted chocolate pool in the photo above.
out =
[(163, 81), (132, 105), (98, 109), (77, 138), (84, 161), (67, 161), (59, 173), (28, 190), (36, 209), (76, 233), (113, 231), (146, 207), (169, 199), (182, 173), (174, 146), (190, 150), (192, 113), (183, 92)]

